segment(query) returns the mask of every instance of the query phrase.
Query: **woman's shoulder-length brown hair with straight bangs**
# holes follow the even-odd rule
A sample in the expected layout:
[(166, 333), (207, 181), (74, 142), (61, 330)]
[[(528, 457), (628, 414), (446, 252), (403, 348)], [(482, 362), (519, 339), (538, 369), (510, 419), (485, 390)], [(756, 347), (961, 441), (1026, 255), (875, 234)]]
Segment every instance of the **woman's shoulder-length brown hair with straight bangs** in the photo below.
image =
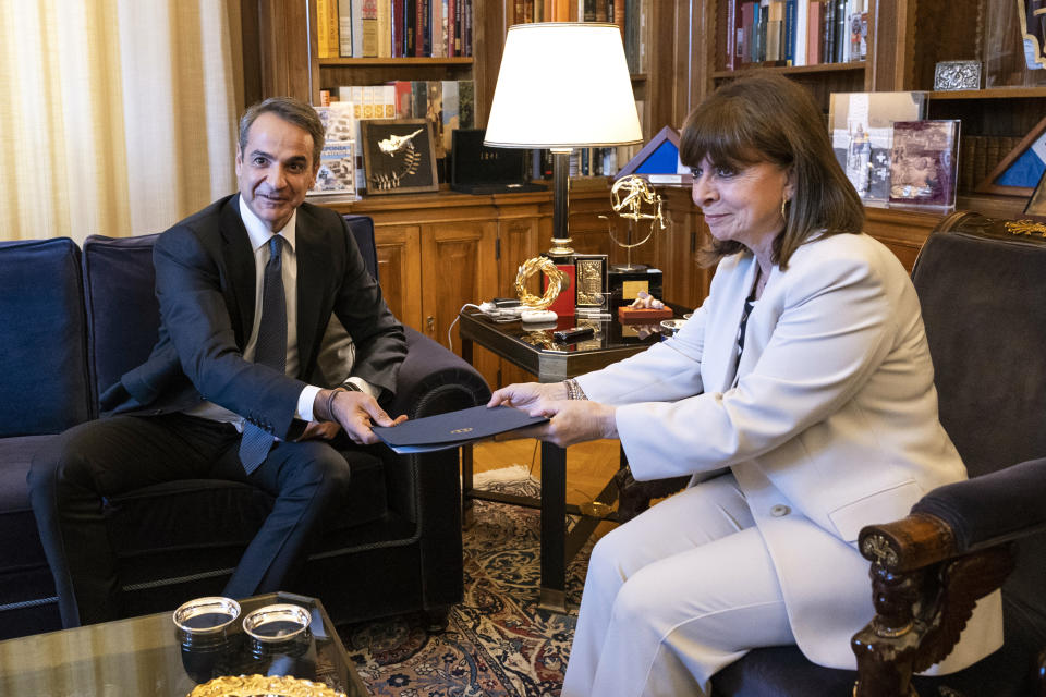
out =
[[(793, 194), (773, 249), (782, 269), (817, 231), (862, 230), (864, 207), (836, 161), (820, 110), (806, 88), (787, 77), (752, 72), (717, 89), (686, 118), (679, 155), (688, 167), (707, 157), (713, 167), (771, 162), (791, 170)], [(715, 264), (745, 249), (740, 242), (713, 240), (703, 260)]]

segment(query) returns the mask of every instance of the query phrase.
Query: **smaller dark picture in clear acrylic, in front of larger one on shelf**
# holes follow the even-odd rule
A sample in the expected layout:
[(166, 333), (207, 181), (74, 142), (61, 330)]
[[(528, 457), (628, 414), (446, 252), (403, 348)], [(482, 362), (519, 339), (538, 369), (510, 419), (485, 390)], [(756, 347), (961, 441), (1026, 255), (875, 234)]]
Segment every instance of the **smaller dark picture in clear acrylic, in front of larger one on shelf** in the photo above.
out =
[(898, 121), (890, 152), (890, 204), (956, 205), (959, 124)]

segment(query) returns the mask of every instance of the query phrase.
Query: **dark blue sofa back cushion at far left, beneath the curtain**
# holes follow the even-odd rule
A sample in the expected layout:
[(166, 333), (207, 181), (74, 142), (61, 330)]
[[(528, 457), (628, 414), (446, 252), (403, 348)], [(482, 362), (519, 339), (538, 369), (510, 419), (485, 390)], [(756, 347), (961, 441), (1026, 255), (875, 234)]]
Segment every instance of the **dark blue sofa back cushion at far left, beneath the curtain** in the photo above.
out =
[(68, 237), (0, 242), (0, 438), (90, 418), (80, 249)]

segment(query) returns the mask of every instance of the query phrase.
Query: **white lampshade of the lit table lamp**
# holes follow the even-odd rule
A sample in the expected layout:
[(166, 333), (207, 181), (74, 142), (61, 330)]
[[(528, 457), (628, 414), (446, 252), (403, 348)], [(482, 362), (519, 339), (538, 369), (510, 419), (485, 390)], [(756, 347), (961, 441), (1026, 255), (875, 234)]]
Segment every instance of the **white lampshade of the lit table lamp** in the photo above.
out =
[(562, 149), (642, 139), (616, 25), (509, 27), (484, 145)]

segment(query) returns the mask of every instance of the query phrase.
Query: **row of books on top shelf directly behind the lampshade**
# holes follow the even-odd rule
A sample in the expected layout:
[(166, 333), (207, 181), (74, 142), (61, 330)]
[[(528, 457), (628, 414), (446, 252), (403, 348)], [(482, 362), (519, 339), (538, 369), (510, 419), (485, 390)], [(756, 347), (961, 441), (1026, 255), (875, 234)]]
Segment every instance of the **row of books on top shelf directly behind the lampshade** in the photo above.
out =
[(624, 57), (633, 75), (646, 70), (644, 0), (513, 0), (510, 24), (532, 22), (608, 22), (621, 29)]

